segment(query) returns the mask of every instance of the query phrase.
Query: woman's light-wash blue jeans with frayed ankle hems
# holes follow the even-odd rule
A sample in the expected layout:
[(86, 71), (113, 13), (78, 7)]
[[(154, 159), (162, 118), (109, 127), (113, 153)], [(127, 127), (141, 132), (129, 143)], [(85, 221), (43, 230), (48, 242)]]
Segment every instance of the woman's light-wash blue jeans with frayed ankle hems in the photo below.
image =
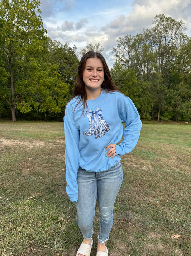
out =
[(93, 234), (96, 199), (100, 212), (98, 242), (104, 244), (109, 239), (113, 225), (114, 203), (122, 181), (121, 162), (103, 172), (87, 172), (79, 168), (76, 208), (78, 226), (86, 240), (89, 240)]

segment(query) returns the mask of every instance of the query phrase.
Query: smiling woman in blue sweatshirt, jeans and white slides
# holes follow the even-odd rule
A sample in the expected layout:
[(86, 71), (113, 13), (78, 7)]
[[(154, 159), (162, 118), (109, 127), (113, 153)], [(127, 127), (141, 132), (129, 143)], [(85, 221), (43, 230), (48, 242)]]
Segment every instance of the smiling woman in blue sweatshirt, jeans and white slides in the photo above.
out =
[[(123, 122), (125, 122), (123, 141)], [(120, 156), (137, 144), (141, 121), (133, 102), (114, 84), (100, 53), (89, 51), (78, 66), (74, 96), (65, 117), (66, 192), (76, 202), (83, 242), (77, 256), (90, 256), (96, 199), (99, 206), (97, 256), (108, 256), (106, 241), (123, 170)]]

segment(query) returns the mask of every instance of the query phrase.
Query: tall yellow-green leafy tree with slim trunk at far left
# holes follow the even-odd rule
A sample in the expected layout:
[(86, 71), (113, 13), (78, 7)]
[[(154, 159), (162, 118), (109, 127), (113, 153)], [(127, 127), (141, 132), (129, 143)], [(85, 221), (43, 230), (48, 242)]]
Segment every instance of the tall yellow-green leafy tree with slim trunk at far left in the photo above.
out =
[[(46, 30), (43, 28), (39, 0), (2, 0), (1, 21), (1, 98), (10, 106), (12, 120), (15, 108), (23, 113), (35, 111), (60, 112), (59, 95), (68, 91), (57, 72), (47, 62)], [(66, 99), (65, 99), (66, 101)], [(63, 102), (61, 103), (61, 105)]]

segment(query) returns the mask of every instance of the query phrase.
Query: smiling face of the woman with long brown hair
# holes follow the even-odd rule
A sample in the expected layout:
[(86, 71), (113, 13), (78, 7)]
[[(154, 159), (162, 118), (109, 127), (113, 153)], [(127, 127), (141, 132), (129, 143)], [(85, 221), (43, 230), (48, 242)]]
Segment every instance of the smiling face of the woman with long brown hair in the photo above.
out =
[(89, 58), (86, 60), (85, 69), (83, 71), (83, 82), (86, 91), (101, 93), (101, 84), (104, 81), (103, 63), (98, 58)]

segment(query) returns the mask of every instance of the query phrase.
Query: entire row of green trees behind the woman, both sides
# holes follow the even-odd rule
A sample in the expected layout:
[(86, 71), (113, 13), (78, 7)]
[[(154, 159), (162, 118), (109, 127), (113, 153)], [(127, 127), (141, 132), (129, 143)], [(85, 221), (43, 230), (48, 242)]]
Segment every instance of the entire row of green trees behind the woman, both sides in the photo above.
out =
[[(47, 37), (39, 0), (0, 1), (0, 118), (63, 120), (79, 58), (100, 44)], [(191, 120), (191, 39), (182, 21), (161, 14), (151, 30), (118, 39), (112, 76), (141, 118)]]

